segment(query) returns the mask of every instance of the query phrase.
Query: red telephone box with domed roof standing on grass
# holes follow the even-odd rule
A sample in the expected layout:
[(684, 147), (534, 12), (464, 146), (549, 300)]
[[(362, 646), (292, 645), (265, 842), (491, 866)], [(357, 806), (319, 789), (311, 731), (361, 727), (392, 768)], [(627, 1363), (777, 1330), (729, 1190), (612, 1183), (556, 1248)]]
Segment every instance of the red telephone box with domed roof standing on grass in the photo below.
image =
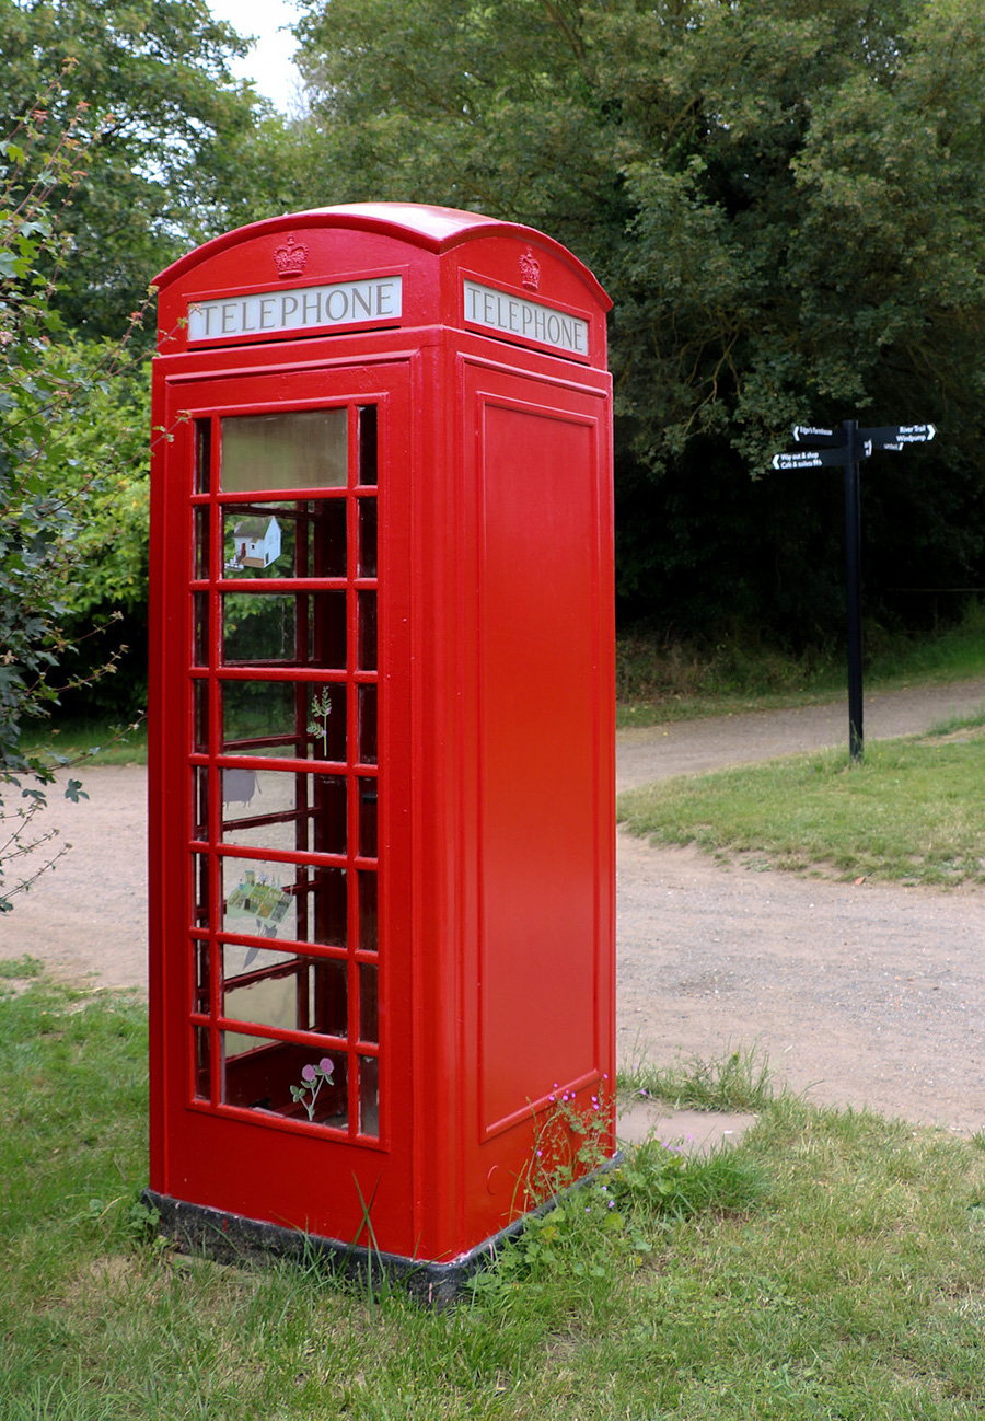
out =
[(397, 203), (158, 284), (149, 1195), (434, 1287), (614, 1079), (610, 301)]

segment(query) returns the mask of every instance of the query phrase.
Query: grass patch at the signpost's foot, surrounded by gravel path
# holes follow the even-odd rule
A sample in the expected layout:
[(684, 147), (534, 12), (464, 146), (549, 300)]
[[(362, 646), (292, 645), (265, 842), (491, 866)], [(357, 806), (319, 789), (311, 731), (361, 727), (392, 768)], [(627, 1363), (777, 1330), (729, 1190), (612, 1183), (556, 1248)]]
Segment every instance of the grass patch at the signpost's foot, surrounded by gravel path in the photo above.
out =
[(634, 834), (752, 867), (952, 887), (985, 882), (985, 715), (938, 733), (679, 776), (620, 796)]

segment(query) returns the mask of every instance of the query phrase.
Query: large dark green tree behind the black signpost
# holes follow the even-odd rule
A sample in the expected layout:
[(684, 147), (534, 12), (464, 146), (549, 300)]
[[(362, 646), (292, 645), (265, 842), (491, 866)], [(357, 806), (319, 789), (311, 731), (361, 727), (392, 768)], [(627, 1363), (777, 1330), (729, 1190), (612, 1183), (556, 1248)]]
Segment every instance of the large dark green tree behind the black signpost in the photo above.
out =
[(529, 222), (613, 294), (624, 614), (831, 635), (840, 493), (760, 476), (856, 414), (941, 426), (866, 468), (870, 610), (982, 581), (976, 0), (307, 0), (300, 36), (318, 202)]

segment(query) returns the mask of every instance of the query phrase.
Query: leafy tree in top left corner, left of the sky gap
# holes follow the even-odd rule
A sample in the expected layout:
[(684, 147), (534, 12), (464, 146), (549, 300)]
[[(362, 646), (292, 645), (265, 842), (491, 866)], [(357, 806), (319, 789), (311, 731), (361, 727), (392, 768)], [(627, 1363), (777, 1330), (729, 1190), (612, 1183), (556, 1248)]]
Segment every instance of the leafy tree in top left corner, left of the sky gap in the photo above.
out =
[(148, 281), (227, 226), (243, 180), (227, 151), (263, 112), (229, 71), (244, 48), (205, 0), (0, 0), (0, 132), (47, 90), (51, 131), (71, 122), (88, 146), (60, 219), (70, 325), (119, 335)]

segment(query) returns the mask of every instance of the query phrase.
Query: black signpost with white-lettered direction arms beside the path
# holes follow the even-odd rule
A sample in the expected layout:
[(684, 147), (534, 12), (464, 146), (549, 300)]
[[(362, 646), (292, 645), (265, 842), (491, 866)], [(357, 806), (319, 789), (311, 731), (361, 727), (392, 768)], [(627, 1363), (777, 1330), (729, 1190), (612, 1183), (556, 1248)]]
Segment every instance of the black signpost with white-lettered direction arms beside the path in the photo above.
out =
[(934, 425), (883, 425), (860, 429), (846, 419), (840, 429), (795, 425), (793, 438), (810, 448), (773, 455), (775, 469), (844, 468), (844, 550), (849, 574), (849, 753), (860, 760), (864, 747), (861, 706), (861, 500), (858, 465), (877, 449), (898, 453), (908, 445), (930, 443)]

